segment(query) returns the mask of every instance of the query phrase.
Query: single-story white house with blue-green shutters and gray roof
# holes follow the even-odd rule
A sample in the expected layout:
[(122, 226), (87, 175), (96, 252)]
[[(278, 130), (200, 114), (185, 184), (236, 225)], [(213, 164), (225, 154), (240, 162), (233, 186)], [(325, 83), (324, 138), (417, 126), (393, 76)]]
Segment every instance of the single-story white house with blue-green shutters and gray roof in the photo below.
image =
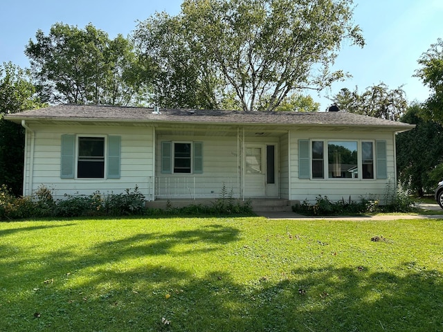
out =
[(343, 111), (243, 112), (63, 104), (10, 114), (26, 129), (24, 196), (125, 192), (147, 201), (314, 202), (395, 187), (395, 134), (413, 129)]

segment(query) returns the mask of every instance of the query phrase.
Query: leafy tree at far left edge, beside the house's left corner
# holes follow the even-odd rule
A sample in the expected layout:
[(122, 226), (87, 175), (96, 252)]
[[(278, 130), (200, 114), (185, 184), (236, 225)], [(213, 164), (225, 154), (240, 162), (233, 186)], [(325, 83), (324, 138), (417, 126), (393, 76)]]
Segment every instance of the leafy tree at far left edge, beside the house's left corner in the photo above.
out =
[(23, 186), (24, 129), (3, 116), (42, 106), (28, 71), (11, 62), (0, 65), (0, 185), (16, 195)]

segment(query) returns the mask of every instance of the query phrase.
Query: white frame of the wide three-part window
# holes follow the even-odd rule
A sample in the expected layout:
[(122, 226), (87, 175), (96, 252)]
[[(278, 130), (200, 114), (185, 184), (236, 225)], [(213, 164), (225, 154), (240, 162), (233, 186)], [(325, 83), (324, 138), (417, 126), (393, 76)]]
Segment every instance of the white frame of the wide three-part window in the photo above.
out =
[[(313, 167), (313, 145), (314, 142), (323, 142), (323, 177), (314, 177)], [(356, 142), (357, 143), (357, 177), (341, 178), (329, 177), (329, 142)], [(363, 142), (370, 142), (372, 144), (372, 178), (363, 178)], [(310, 179), (314, 181), (374, 181), (377, 180), (377, 147), (376, 140), (366, 139), (341, 139), (341, 138), (313, 138), (309, 140), (309, 173)]]

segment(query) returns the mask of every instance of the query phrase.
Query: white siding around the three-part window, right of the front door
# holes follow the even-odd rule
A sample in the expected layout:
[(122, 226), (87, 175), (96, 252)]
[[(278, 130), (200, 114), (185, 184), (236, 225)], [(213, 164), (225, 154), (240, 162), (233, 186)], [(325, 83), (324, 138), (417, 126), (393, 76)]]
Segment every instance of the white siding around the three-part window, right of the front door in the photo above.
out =
[[(293, 201), (315, 203), (318, 195), (327, 196), (331, 201), (344, 199), (360, 201), (362, 197), (375, 197), (383, 200), (388, 187), (395, 187), (394, 136), (392, 133), (379, 132), (343, 132), (343, 131), (291, 131), (291, 195)], [(386, 140), (388, 178), (387, 179), (300, 179), (298, 178), (298, 140)]]

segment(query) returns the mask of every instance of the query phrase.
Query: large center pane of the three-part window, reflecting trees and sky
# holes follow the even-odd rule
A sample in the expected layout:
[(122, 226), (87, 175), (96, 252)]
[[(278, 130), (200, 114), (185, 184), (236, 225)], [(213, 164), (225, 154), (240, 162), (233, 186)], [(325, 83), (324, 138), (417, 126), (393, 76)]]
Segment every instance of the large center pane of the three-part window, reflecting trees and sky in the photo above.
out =
[(357, 142), (328, 142), (328, 177), (358, 178)]

